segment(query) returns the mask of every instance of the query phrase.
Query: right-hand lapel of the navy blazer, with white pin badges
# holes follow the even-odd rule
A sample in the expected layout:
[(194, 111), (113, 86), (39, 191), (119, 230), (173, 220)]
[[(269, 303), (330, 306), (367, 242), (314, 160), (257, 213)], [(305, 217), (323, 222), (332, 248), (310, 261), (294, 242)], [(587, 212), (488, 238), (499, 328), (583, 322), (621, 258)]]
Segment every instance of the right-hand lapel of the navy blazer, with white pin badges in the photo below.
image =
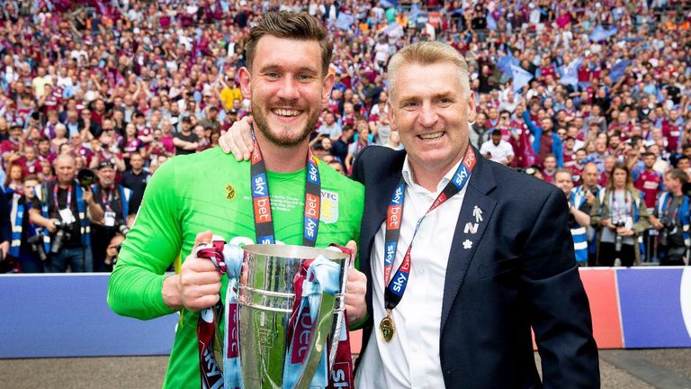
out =
[(475, 250), (478, 248), (497, 206), (497, 201), (487, 195), (496, 186), (492, 169), (489, 163), (480, 156), (477, 149), (475, 149), (475, 153), (478, 156), (478, 162), (473, 169), (471, 181), (468, 183), (463, 197), (461, 213), (458, 215), (451, 252), (446, 265), (441, 330), (444, 330), (444, 324), (451, 311), (453, 300), (461, 288), (466, 271), (475, 255)]

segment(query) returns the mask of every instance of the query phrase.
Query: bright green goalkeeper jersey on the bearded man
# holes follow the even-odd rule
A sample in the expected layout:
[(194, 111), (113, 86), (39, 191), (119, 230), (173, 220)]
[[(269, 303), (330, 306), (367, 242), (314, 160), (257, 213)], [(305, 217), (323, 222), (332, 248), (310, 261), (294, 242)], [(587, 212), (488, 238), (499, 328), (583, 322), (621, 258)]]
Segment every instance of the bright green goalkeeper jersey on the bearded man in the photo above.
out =
[[(186, 258), (197, 233), (212, 231), (229, 243), (255, 243), (250, 163), (220, 148), (177, 156), (159, 167), (108, 288), (112, 310), (138, 319), (174, 313), (163, 301), (164, 273), (178, 255)], [(277, 243), (301, 245), (307, 169), (267, 172)], [(363, 217), (363, 186), (319, 163), (321, 207), (316, 246), (358, 240)], [(225, 295), (228, 278), (222, 278)], [(167, 388), (201, 387), (197, 312), (181, 312), (166, 373)]]

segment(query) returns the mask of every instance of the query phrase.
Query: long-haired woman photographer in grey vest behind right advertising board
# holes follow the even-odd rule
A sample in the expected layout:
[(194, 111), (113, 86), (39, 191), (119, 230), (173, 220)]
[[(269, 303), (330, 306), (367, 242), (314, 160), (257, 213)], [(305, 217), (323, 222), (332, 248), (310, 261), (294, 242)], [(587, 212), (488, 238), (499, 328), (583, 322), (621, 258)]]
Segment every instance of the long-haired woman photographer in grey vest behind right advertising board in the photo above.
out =
[(641, 263), (643, 231), (649, 226), (649, 213), (641, 191), (633, 187), (631, 172), (621, 162), (615, 167), (590, 210), (590, 225), (597, 231), (597, 266), (624, 267)]

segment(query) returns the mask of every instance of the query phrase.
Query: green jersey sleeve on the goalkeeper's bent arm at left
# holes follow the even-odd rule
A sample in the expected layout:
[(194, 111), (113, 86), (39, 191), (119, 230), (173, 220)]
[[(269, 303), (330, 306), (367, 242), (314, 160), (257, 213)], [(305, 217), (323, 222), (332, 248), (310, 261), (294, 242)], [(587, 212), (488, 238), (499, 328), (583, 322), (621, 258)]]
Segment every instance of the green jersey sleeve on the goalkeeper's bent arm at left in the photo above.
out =
[(168, 276), (166, 269), (182, 246), (176, 162), (171, 160), (157, 169), (122, 244), (108, 286), (108, 304), (118, 314), (147, 320), (172, 313), (161, 290)]

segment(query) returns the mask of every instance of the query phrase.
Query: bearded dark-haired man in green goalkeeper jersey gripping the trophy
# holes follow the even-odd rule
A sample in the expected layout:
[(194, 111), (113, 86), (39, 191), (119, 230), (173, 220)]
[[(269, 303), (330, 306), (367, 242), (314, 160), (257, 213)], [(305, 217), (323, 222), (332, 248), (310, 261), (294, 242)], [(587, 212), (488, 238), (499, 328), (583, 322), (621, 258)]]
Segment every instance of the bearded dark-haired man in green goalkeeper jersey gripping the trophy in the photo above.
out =
[[(266, 14), (250, 32), (247, 68), (239, 71), (242, 93), (251, 96), (256, 142), (265, 163), (261, 182), (250, 173), (250, 162), (238, 162), (215, 148), (173, 158), (148, 185), (113, 270), (108, 303), (113, 311), (139, 319), (181, 311), (165, 387), (201, 386), (198, 312), (214, 305), (227, 286), (227, 278), (221, 279), (209, 259), (190, 255), (197, 244), (211, 241), (213, 234), (235, 244), (264, 241), (256, 234), (257, 214), (268, 214), (273, 221), (276, 243), (303, 244), (314, 227), (304, 216), (310, 203), (305, 201), (308, 167), (314, 166), (321, 197), (315, 246), (358, 239), (363, 186), (316, 158), (308, 164), (309, 135), (334, 83), (327, 71), (330, 59), (327, 32), (316, 19)], [(271, 207), (256, 193), (270, 196)], [(179, 274), (165, 275), (180, 254), (185, 259)], [(349, 271), (350, 322), (366, 314), (365, 289), (363, 274)]]

